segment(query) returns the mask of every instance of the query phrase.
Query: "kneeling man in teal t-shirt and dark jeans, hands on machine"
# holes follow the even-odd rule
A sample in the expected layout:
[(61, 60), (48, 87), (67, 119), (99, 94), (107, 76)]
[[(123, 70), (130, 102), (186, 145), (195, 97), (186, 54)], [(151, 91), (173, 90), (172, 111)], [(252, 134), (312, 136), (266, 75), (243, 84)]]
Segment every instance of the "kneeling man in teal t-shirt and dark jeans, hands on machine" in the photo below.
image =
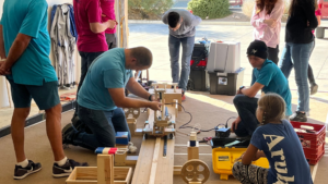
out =
[[(79, 118), (91, 130), (86, 133), (68, 124), (62, 130), (63, 144), (95, 150), (114, 147), (116, 132), (130, 131), (121, 108), (160, 110), (160, 103), (133, 78), (132, 70), (152, 65), (152, 52), (144, 47), (115, 48), (95, 59), (79, 91)], [(127, 98), (125, 88), (149, 101)]]

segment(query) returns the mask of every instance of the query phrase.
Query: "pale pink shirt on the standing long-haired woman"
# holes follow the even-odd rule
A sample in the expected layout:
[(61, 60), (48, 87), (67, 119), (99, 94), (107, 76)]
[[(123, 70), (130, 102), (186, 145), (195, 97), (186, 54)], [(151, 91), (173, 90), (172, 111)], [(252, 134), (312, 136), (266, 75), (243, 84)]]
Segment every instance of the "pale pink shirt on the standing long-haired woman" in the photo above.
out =
[[(278, 0), (272, 12), (267, 14), (266, 8), (257, 13), (256, 5), (254, 7), (250, 24), (254, 27), (254, 39), (262, 40), (270, 48), (277, 48), (280, 42), (281, 17), (284, 11), (283, 0)], [(269, 27), (263, 23), (265, 20), (277, 20), (274, 28)]]

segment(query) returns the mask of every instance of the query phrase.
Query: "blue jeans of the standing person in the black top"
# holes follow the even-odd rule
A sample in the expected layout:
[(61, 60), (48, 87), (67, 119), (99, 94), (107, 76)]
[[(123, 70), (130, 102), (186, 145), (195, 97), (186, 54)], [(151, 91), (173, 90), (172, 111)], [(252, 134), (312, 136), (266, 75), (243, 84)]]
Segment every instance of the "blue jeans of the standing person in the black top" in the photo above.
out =
[(309, 93), (307, 83), (307, 70), (311, 51), (314, 42), (292, 44), (286, 42), (282, 51), (279, 68), (286, 78), (289, 78), (292, 69), (295, 69), (295, 81), (298, 88), (297, 111), (307, 112), (309, 110)]

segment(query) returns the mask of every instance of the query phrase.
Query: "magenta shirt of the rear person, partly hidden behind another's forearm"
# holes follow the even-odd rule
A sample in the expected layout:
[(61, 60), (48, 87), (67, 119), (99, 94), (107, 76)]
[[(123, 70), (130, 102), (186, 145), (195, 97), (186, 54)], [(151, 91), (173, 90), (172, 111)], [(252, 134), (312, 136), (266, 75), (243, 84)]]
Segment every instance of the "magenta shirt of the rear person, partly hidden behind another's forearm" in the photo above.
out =
[[(101, 7), (102, 7), (102, 12), (105, 16), (102, 16), (103, 22), (106, 22), (108, 20), (116, 21), (115, 16), (115, 0), (101, 0)], [(115, 34), (116, 33), (116, 26), (110, 29), (107, 28), (105, 30), (106, 34)]]

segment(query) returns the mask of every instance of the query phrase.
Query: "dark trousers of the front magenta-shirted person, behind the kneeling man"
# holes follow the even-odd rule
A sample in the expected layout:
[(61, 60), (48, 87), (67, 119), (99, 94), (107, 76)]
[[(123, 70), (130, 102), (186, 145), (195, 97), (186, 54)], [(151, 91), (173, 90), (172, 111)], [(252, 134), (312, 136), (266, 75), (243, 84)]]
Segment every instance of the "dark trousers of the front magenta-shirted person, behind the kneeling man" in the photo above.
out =
[[(86, 76), (87, 70), (90, 68), (90, 65), (92, 64), (92, 62), (102, 53), (104, 52), (79, 52), (80, 57), (81, 57), (81, 77), (80, 77), (80, 82), (79, 82), (79, 86), (78, 86), (78, 91), (77, 94), (79, 94), (79, 90), (83, 84), (83, 81)], [(79, 106), (78, 106), (78, 95), (77, 95), (77, 107), (75, 107), (75, 112), (74, 112), (74, 116), (78, 115), (79, 112)]]

